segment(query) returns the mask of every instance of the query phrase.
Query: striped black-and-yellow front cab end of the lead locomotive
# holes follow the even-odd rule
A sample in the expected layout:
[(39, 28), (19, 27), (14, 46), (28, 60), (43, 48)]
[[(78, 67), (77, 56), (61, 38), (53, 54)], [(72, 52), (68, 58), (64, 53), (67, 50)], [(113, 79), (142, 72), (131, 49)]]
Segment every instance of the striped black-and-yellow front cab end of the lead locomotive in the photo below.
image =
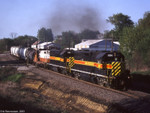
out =
[(102, 52), (97, 56), (101, 61), (102, 69), (107, 71), (110, 86), (114, 88), (127, 88), (130, 82), (129, 71), (125, 68), (124, 56), (120, 52)]

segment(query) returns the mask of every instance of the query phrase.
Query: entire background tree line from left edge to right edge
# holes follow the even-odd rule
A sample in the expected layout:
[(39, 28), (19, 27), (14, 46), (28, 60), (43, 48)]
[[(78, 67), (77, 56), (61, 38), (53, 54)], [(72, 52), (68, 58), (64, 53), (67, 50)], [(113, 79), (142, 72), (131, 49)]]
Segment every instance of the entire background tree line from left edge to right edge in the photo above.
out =
[[(114, 29), (104, 31), (104, 38), (120, 42), (120, 51), (125, 55), (128, 67), (134, 70), (150, 68), (150, 12), (145, 12), (137, 23), (122, 13), (108, 17), (107, 22), (113, 24)], [(97, 39), (100, 34), (99, 31), (85, 29), (80, 33), (65, 31), (54, 37), (52, 29), (43, 27), (38, 30), (37, 37), (25, 35), (14, 38), (16, 34), (12, 33), (13, 39), (1, 39), (0, 51), (9, 50), (11, 46), (29, 47), (36, 40), (53, 41), (62, 48), (74, 47), (82, 39)]]

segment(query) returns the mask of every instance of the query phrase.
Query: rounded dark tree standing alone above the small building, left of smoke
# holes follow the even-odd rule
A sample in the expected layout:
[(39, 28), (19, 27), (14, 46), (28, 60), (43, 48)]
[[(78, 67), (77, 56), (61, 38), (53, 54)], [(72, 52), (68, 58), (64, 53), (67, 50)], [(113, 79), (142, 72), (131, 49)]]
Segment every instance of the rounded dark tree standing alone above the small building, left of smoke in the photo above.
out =
[(53, 33), (51, 29), (45, 29), (44, 27), (38, 30), (38, 39), (43, 42), (53, 41)]

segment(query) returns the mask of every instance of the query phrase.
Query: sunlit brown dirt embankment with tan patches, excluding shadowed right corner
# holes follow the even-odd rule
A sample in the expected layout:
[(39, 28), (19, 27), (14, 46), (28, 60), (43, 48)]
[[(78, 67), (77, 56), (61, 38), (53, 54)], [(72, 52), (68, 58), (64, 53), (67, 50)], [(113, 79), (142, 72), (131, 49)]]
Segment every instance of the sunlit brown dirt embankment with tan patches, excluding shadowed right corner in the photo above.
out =
[(99, 113), (107, 109), (107, 106), (98, 100), (93, 101), (94, 98), (71, 90), (68, 86), (57, 84), (53, 80), (42, 80), (31, 72), (21, 71), (21, 73), (24, 77), (16, 83), (11, 81), (0, 83), (0, 95), (3, 100), (0, 109), (18, 112), (22, 110), (26, 113)]

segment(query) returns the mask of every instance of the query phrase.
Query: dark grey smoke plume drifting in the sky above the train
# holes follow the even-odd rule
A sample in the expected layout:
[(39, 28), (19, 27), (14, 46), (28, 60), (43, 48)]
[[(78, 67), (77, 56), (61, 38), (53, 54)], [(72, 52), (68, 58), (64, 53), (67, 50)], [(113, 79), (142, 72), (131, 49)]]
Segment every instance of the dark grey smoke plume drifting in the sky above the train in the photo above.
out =
[[(80, 32), (84, 29), (103, 30), (104, 21), (97, 7), (89, 4), (80, 5), (81, 0), (72, 3), (61, 0), (55, 2), (52, 15), (48, 18), (48, 25), (54, 34), (72, 30)], [(72, 0), (71, 0), (72, 1)]]

